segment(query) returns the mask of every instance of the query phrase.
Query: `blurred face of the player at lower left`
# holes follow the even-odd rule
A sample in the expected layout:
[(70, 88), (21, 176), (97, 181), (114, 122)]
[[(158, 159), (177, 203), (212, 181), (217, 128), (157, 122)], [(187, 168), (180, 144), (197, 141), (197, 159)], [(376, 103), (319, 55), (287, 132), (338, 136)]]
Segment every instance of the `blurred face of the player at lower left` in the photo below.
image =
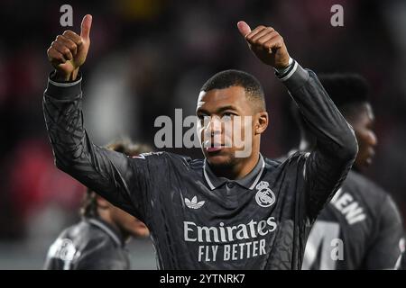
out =
[(115, 225), (127, 235), (134, 237), (148, 237), (150, 235), (150, 231), (141, 220), (113, 205), (111, 207), (111, 218)]

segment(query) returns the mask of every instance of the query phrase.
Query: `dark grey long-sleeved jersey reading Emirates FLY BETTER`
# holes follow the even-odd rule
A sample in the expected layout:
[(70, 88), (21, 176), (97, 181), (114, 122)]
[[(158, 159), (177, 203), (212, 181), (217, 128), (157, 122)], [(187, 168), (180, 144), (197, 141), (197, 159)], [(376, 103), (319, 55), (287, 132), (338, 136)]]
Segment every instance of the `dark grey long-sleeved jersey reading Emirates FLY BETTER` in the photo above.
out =
[(300, 269), (309, 229), (352, 166), (353, 130), (317, 76), (297, 63), (281, 80), (318, 137), (283, 163), (258, 155), (237, 181), (205, 160), (171, 153), (125, 157), (93, 144), (81, 79), (49, 81), (43, 109), (56, 165), (148, 226), (161, 269)]

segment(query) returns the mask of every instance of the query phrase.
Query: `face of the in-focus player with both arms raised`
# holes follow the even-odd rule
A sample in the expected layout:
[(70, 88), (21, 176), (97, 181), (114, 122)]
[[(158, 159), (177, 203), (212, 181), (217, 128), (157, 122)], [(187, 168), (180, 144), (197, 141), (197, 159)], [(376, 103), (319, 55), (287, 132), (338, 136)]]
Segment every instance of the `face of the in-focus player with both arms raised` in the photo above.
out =
[(251, 157), (255, 117), (244, 87), (200, 92), (197, 116), (200, 145), (211, 166), (233, 166)]

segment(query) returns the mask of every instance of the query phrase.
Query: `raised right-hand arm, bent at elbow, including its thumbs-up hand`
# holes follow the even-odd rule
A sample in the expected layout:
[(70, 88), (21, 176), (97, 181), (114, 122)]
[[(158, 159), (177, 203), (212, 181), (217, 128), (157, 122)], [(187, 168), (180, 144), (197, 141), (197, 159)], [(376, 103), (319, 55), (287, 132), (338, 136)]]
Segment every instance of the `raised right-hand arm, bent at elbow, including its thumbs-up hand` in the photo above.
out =
[(354, 131), (328, 97), (316, 74), (293, 60), (281, 35), (272, 27), (258, 26), (253, 31), (245, 22), (238, 30), (254, 55), (274, 67), (288, 88), (309, 128), (317, 147), (306, 157), (305, 213), (314, 220), (318, 211), (337, 192), (352, 166), (358, 146)]

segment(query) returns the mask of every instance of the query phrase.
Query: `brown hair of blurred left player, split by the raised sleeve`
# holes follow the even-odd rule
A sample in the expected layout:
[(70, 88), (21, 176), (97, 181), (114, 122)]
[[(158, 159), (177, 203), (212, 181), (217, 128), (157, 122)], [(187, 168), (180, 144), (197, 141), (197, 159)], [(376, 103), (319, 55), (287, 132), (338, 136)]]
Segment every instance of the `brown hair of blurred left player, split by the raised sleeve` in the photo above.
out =
[[(129, 139), (120, 139), (106, 145), (107, 149), (117, 151), (126, 156), (138, 156), (141, 153), (151, 152), (152, 148), (146, 144), (134, 144)], [(98, 216), (96, 193), (87, 188), (80, 214), (85, 217), (94, 218)]]

